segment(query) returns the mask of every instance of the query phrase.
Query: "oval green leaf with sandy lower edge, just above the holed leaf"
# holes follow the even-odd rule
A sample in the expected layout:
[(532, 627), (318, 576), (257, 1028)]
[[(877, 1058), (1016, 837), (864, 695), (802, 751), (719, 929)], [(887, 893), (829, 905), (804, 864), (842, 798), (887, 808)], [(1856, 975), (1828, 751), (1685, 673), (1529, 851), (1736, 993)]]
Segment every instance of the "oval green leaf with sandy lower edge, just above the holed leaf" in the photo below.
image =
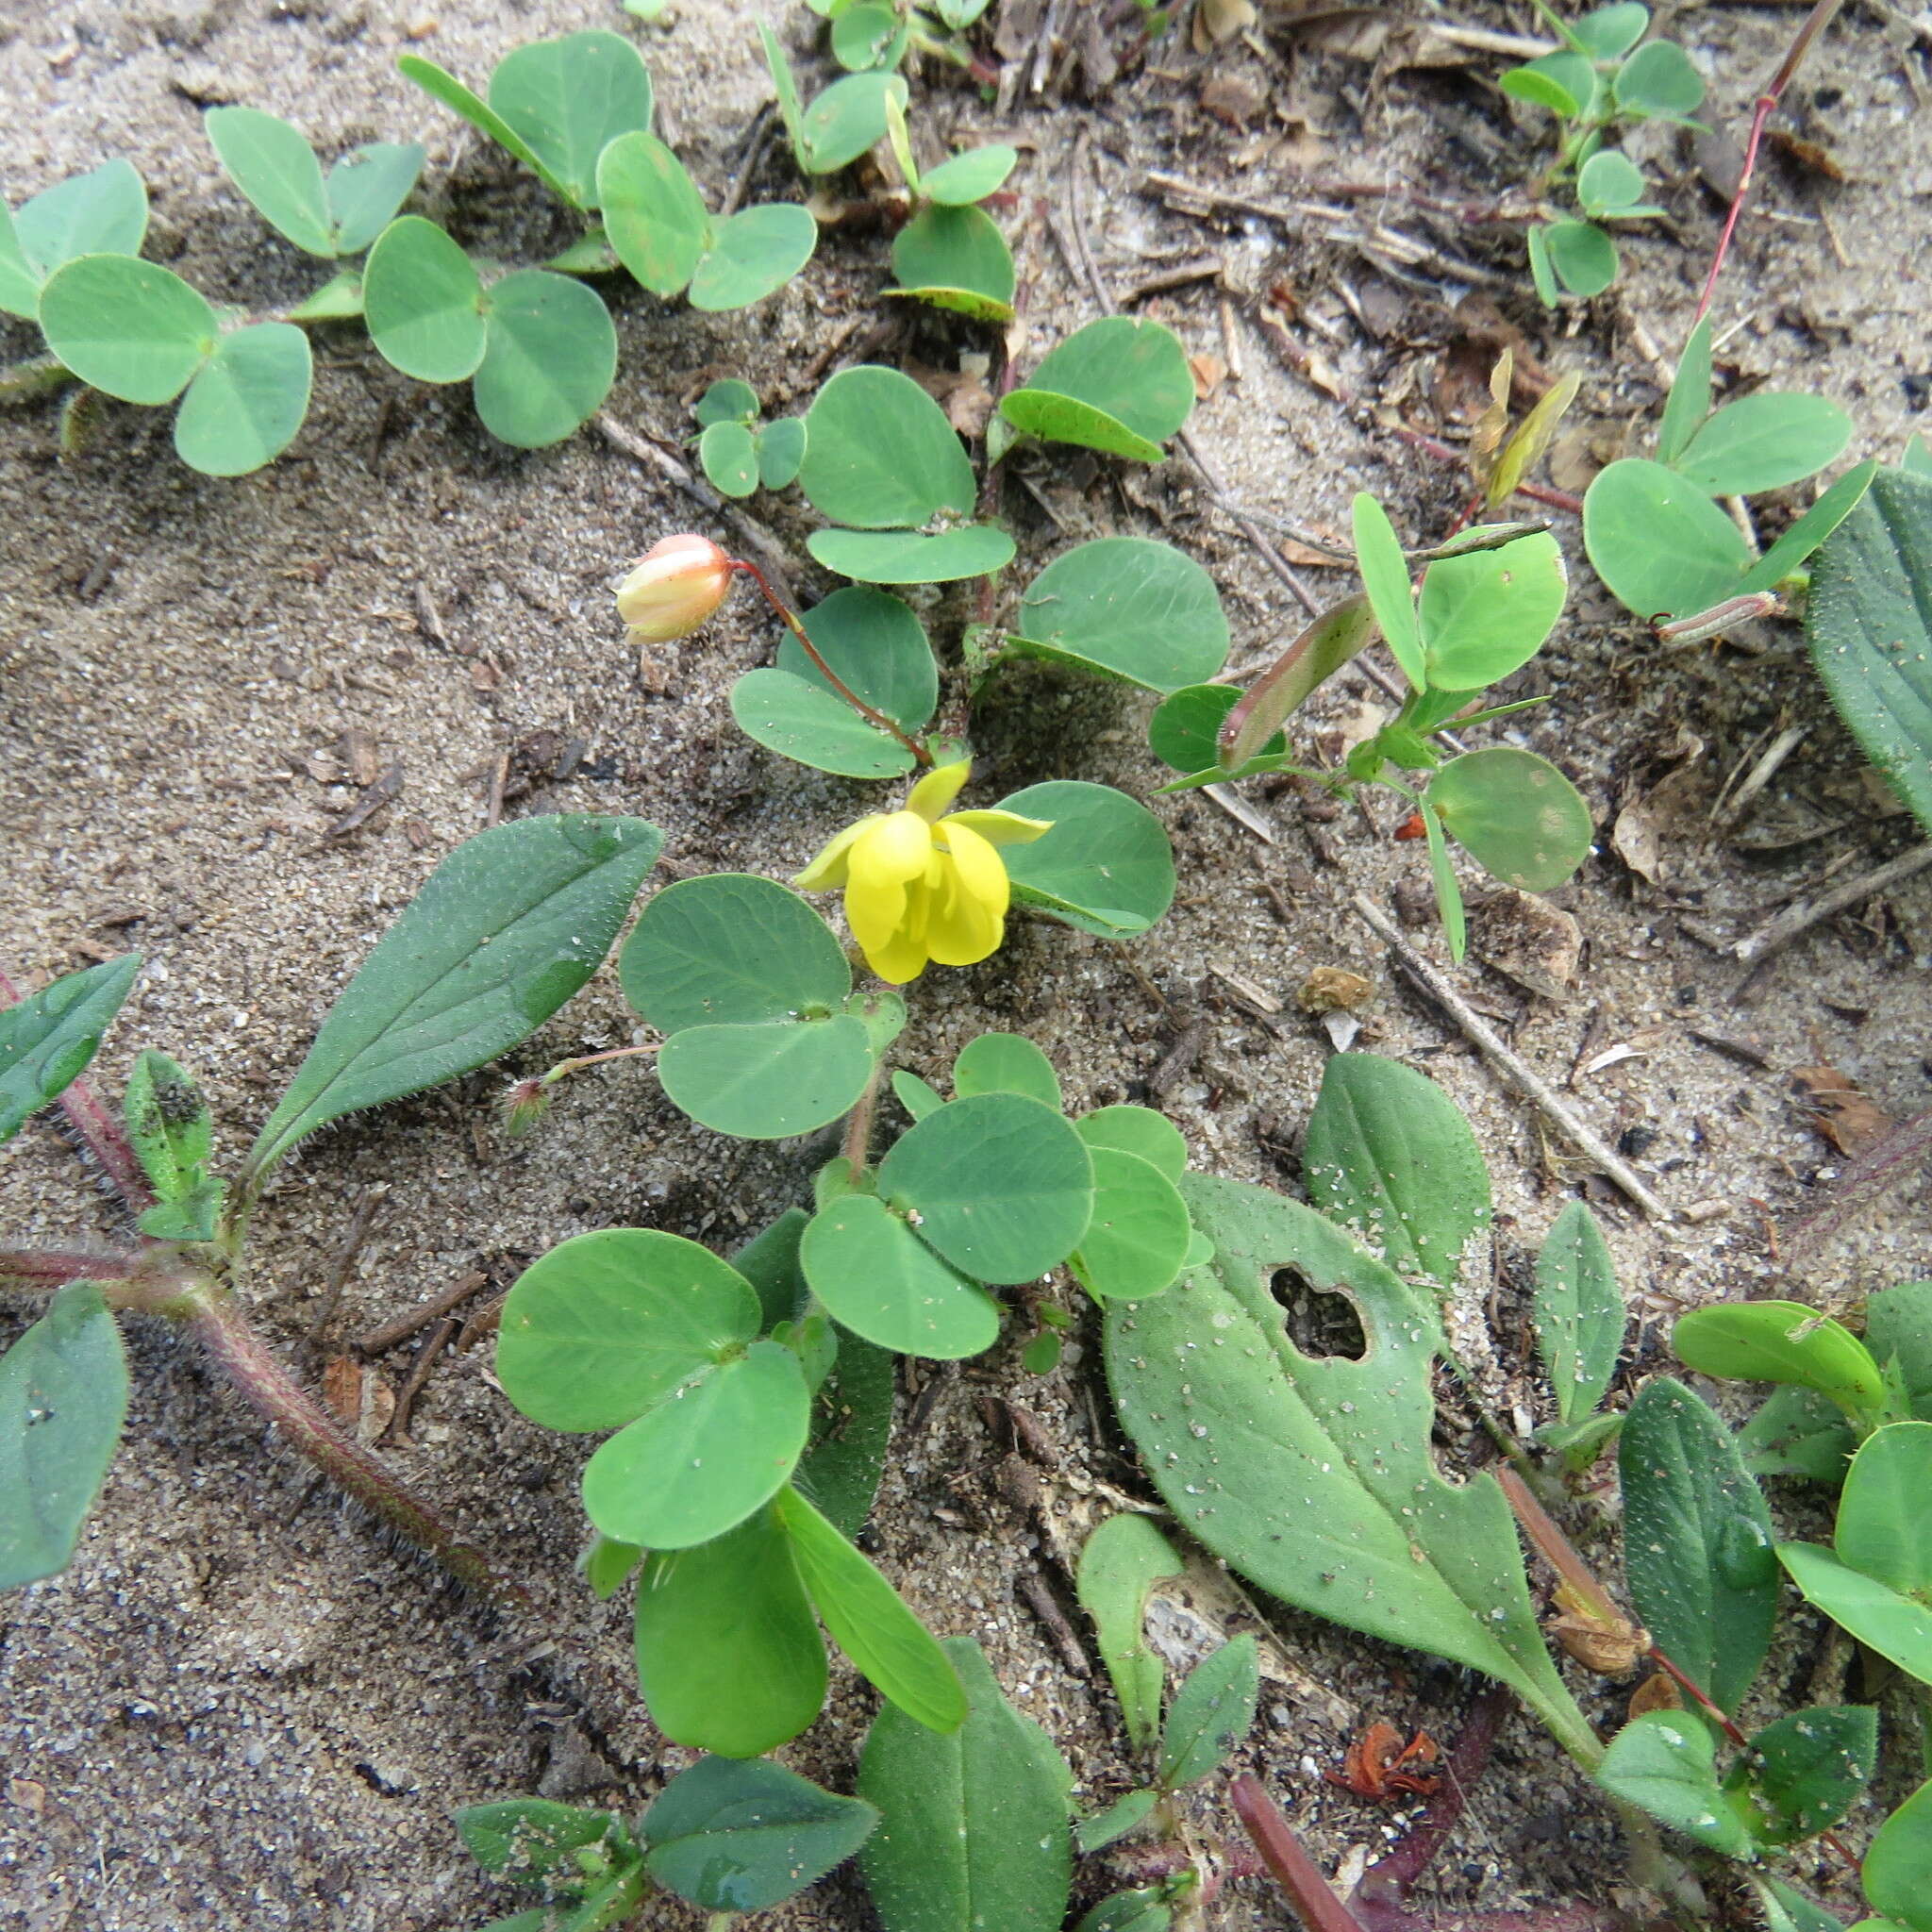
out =
[(1447, 1294), (1490, 1233), (1490, 1169), (1449, 1095), (1401, 1061), (1337, 1053), (1308, 1115), (1302, 1186), (1405, 1281)]

